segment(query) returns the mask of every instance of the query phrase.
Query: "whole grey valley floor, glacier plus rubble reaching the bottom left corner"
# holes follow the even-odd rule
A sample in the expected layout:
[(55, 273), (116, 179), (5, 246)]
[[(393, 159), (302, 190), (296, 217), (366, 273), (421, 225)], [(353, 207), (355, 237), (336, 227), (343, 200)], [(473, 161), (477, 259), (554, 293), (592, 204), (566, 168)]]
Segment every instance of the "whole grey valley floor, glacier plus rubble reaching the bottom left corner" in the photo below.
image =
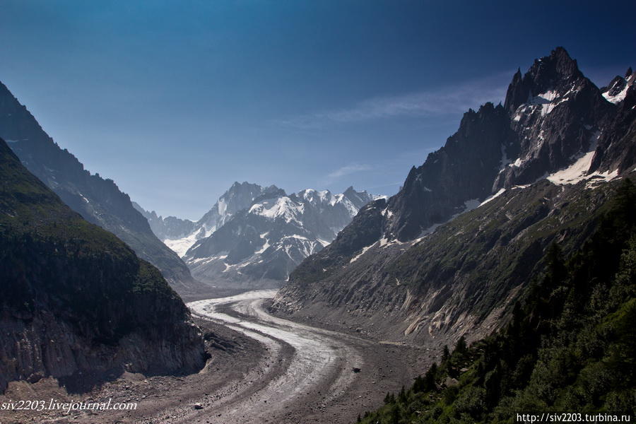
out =
[[(136, 402), (136, 411), (8, 413), (1, 423), (352, 423), (410, 386), (430, 365), (428, 352), (273, 317), (275, 290), (197, 300), (188, 306), (212, 358), (196, 375), (126, 374), (84, 394), (57, 382), (12, 383), (1, 401)], [(354, 372), (359, 368), (360, 372)], [(194, 408), (200, 404), (201, 408)]]

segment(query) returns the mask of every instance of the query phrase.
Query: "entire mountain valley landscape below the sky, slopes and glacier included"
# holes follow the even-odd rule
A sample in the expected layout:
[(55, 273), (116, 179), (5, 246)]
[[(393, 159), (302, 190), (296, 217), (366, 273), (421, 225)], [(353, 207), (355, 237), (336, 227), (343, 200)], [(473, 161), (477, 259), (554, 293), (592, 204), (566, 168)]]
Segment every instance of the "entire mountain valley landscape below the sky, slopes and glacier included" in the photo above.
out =
[(235, 182), (196, 221), (85, 170), (1, 84), (0, 137), (0, 405), (139, 406), (1, 423), (635, 412), (631, 68), (599, 88), (557, 47), (393, 196)]

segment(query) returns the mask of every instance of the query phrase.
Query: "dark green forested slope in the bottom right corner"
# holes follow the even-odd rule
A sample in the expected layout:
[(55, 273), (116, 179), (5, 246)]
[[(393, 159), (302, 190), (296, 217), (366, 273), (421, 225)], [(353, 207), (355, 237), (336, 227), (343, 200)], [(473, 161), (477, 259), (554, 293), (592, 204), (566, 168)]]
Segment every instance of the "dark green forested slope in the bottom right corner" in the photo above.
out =
[(520, 411), (634, 413), (636, 187), (625, 179), (594, 235), (557, 245), (505, 329), (462, 338), (363, 423), (513, 423)]

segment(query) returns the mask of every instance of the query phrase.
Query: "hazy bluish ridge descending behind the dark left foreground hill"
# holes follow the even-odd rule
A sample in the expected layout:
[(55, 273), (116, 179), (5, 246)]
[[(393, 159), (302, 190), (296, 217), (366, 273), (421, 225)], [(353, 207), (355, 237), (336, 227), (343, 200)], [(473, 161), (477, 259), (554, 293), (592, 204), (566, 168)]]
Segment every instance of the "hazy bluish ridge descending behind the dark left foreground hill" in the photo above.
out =
[(59, 148), (2, 83), (0, 137), (73, 211), (117, 235), (139, 257), (157, 266), (173, 287), (187, 292), (197, 286), (184, 262), (153, 234), (129, 196), (112, 179), (91, 175), (75, 156)]

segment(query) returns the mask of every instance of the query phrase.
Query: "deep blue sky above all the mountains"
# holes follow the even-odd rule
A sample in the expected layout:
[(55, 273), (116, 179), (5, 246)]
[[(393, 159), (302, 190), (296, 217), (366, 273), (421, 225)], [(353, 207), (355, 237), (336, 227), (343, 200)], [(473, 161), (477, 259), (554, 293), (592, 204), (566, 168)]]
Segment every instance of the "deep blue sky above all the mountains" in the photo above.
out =
[(0, 81), (91, 172), (198, 219), (232, 182), (394, 194), (563, 45), (636, 65), (631, 1), (0, 0)]

